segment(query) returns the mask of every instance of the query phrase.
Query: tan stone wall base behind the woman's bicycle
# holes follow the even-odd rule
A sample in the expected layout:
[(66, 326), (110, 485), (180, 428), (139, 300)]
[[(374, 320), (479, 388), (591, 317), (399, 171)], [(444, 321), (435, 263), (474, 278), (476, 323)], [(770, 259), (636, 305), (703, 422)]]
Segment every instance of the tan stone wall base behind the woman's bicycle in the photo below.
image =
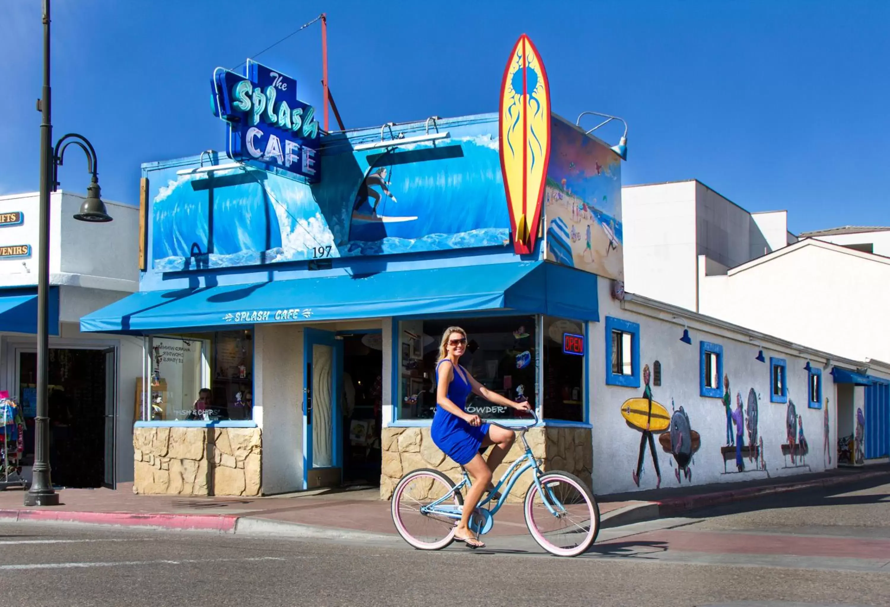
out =
[[(588, 428), (538, 427), (525, 434), (532, 453), (542, 460), (545, 470), (562, 470), (578, 476), (591, 486), (593, 443)], [(460, 466), (435, 446), (429, 428), (384, 428), (382, 436), (383, 467), (380, 475), (380, 498), (392, 498), (402, 475), (417, 468), (434, 468), (447, 474), (454, 482), (461, 478)], [(525, 448), (517, 441), (495, 471), (495, 482), (506, 469), (522, 456)], [(529, 489), (531, 474), (524, 473), (516, 482), (507, 503), (522, 502)]]

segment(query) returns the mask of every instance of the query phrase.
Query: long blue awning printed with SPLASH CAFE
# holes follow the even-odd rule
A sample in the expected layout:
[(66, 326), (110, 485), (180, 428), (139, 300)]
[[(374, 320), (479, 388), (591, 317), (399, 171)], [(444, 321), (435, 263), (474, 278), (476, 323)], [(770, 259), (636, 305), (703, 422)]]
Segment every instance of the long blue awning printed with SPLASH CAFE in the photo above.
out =
[(141, 334), (494, 310), (599, 320), (596, 275), (554, 263), (519, 262), (143, 291), (85, 316), (80, 328)]

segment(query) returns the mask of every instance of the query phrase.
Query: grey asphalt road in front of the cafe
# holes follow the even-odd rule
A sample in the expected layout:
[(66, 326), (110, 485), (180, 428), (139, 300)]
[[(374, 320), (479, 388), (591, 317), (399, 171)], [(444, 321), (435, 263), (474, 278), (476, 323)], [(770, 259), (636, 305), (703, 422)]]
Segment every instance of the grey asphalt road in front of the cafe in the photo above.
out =
[[(497, 523), (496, 523), (497, 524)], [(0, 605), (890, 604), (890, 484), (807, 491), (603, 530), (418, 552), (319, 541), (0, 524)]]

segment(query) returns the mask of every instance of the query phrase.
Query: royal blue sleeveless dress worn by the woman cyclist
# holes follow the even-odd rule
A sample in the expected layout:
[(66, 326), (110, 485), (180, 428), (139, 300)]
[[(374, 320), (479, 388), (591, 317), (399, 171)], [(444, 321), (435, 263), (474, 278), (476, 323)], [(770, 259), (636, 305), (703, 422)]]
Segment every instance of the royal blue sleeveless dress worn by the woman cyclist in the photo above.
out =
[[(440, 360), (436, 365), (436, 384), (439, 383), (439, 367), (445, 360)], [(449, 401), (461, 409), (466, 408), (466, 397), (473, 392), (473, 386), (465, 379), (466, 371), (463, 367), (452, 369), (451, 383), (448, 386)], [(453, 459), (459, 465), (469, 464), (481, 447), (482, 440), (489, 434), (489, 425), (469, 425), (460, 417), (436, 407), (433, 417), (433, 427), (430, 435), (436, 447), (445, 455)]]

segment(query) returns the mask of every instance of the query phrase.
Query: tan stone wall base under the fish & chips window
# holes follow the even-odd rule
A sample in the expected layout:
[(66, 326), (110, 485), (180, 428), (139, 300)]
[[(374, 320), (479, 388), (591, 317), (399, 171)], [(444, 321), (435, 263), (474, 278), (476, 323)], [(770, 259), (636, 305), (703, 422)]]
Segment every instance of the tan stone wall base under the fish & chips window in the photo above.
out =
[(133, 492), (141, 495), (258, 496), (259, 428), (134, 428)]

